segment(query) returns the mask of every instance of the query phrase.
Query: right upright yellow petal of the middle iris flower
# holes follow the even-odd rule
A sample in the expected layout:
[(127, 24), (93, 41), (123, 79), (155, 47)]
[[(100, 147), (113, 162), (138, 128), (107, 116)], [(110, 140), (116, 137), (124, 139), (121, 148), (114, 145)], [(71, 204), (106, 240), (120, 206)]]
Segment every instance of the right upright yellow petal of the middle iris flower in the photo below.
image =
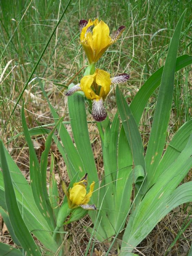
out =
[(110, 74), (104, 70), (97, 70), (96, 84), (101, 86), (99, 96), (105, 100), (107, 94), (110, 91), (111, 79)]

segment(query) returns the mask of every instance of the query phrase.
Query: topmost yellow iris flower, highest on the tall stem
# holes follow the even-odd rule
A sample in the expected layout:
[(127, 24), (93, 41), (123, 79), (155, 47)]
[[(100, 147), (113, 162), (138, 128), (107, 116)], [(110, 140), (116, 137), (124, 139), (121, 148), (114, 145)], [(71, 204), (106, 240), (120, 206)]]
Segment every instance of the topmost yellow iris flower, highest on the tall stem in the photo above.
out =
[[(91, 26), (93, 25), (93, 33), (91, 33)], [(89, 63), (92, 63), (98, 61), (107, 48), (117, 41), (124, 31), (125, 26), (120, 26), (112, 38), (109, 36), (108, 25), (102, 20), (100, 22), (98, 19), (94, 21), (91, 19), (89, 21), (81, 20), (79, 22), (79, 28), (80, 43), (85, 50)]]

